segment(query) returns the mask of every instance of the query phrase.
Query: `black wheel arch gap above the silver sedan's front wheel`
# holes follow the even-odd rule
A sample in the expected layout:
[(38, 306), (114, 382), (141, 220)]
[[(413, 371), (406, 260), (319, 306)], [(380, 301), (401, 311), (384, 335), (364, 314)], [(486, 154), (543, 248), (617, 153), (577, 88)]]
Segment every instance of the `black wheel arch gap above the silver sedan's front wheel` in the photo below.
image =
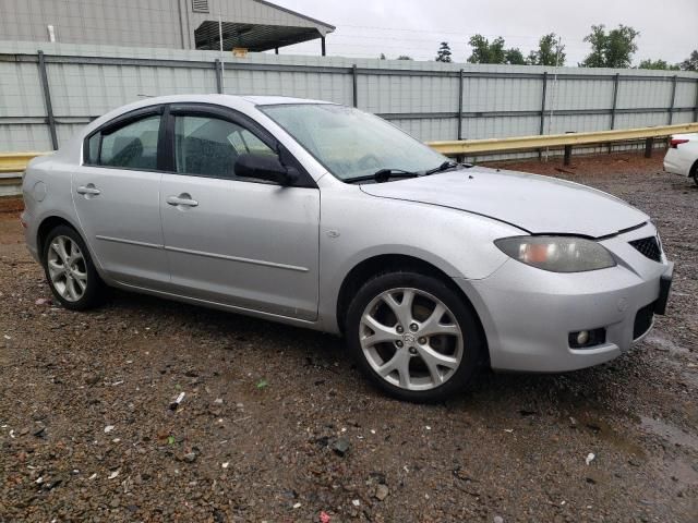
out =
[(466, 295), (466, 293), (458, 287), (453, 278), (450, 278), (446, 272), (436, 267), (435, 265), (425, 262), (424, 259), (418, 258), (416, 256), (406, 255), (406, 254), (380, 254), (372, 256), (370, 258), (363, 259), (359, 264), (354, 265), (353, 268), (347, 273), (345, 279), (341, 282), (339, 288), (339, 294), (337, 297), (337, 325), (339, 327), (340, 332), (344, 335), (346, 331), (346, 316), (349, 309), (349, 304), (351, 303), (352, 296), (357, 293), (357, 291), (371, 278), (389, 272), (399, 272), (399, 271), (414, 271), (424, 276), (434, 277), (441, 281), (443, 281), (450, 290), (453, 290), (457, 295), (459, 295), (466, 306), (471, 311), (473, 318), (476, 319), (476, 324), (482, 335), (482, 339), (485, 342), (485, 356), (490, 358), (490, 351), (488, 346), (488, 337), (482, 325), (482, 320), (480, 319), (480, 315), (476, 309), (474, 305), (470, 301), (470, 299)]

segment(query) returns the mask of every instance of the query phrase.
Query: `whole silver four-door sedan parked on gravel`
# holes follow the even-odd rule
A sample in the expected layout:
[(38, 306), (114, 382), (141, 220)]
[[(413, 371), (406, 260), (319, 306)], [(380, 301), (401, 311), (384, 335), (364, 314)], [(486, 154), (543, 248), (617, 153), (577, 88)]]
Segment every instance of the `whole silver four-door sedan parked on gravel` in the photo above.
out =
[(480, 366), (616, 357), (671, 284), (657, 229), (628, 204), (459, 165), (322, 101), (149, 98), (33, 160), (23, 191), (26, 243), (64, 307), (109, 285), (341, 333), (411, 401)]

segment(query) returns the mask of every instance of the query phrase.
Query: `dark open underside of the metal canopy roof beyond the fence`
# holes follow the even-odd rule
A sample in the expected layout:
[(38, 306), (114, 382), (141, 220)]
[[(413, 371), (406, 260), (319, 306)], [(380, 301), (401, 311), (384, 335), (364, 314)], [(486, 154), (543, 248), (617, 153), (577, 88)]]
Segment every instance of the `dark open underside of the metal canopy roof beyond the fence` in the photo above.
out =
[[(194, 37), (196, 49), (219, 49), (218, 21), (203, 22), (195, 29)], [(267, 51), (322, 37), (324, 35), (315, 27), (222, 22), (222, 48), (228, 51), (233, 47), (244, 47), (254, 52)]]

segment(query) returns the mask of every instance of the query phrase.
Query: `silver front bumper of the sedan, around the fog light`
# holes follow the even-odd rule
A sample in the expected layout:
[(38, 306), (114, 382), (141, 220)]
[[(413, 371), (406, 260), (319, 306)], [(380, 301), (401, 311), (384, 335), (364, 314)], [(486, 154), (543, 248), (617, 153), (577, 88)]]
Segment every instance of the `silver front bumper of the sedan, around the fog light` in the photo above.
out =
[[(578, 273), (555, 273), (507, 260), (482, 280), (456, 279), (480, 315), (494, 369), (556, 373), (607, 362), (627, 351), (663, 314), (673, 264), (645, 258), (627, 242), (603, 244), (618, 265)], [(655, 233), (655, 231), (654, 231)], [(628, 263), (627, 260), (630, 260)], [(605, 329), (605, 341), (569, 346), (569, 333)]]

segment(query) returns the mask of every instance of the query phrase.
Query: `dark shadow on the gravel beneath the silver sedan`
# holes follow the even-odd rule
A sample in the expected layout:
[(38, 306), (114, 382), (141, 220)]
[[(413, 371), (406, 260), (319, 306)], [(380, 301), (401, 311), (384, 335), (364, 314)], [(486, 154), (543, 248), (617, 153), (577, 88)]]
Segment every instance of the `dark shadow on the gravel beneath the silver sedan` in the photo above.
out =
[[(282, 346), (290, 365), (308, 365), (309, 361), (325, 368), (339, 365), (340, 372), (328, 378), (335, 388), (351, 393), (360, 387), (361, 393), (377, 401), (393, 401), (369, 385), (345, 349), (344, 340), (334, 335), (116, 290), (100, 313), (145, 317), (153, 323), (168, 318), (172, 325), (190, 331), (195, 338), (248, 340), (253, 344), (251, 350), (260, 351), (262, 360), (265, 352), (276, 352)], [(483, 413), (506, 408), (524, 412), (522, 415), (551, 409), (601, 410), (603, 406), (598, 398), (604, 398), (606, 408), (615, 404), (614, 390), (617, 390), (618, 381), (643, 373), (635, 356), (635, 351), (631, 351), (607, 364), (564, 374), (495, 373), (483, 368), (462, 394), (436, 406)], [(430, 405), (424, 405), (424, 409), (430, 409)]]

